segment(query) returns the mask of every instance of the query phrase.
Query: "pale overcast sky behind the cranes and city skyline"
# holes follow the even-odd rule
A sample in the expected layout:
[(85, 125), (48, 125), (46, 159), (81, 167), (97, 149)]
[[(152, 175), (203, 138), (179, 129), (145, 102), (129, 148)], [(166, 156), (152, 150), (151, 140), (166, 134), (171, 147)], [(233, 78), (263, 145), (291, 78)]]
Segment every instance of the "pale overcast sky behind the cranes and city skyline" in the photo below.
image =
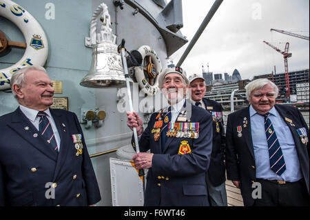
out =
[[(169, 1), (169, 0), (168, 0)], [(183, 28), (189, 41), (209, 12), (214, 0), (183, 0)], [(242, 79), (276, 72), (285, 72), (283, 55), (262, 41), (280, 50), (289, 42), (289, 71), (309, 68), (309, 41), (270, 29), (287, 30), (309, 37), (309, 0), (224, 0), (203, 34), (189, 52), (182, 68), (187, 75), (207, 72), (232, 74)], [(170, 60), (178, 63), (189, 43), (177, 50)]]

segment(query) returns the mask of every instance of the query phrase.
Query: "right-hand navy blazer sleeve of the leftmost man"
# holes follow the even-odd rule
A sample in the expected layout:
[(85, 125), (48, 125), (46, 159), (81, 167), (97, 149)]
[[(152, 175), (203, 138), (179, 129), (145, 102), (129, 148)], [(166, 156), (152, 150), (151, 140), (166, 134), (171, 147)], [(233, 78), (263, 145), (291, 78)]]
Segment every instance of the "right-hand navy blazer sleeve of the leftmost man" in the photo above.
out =
[[(84, 137), (82, 128), (80, 126), (79, 120), (74, 114), (74, 122), (79, 130), (79, 133)], [(85, 140), (83, 138), (83, 163), (82, 163), (82, 173), (83, 179), (85, 181), (85, 188), (87, 192), (87, 203), (88, 206), (94, 205), (101, 200), (101, 195), (99, 191), (99, 186), (96, 180), (96, 175), (94, 173), (94, 168), (92, 167), (92, 161), (90, 160), (90, 155), (88, 154)]]

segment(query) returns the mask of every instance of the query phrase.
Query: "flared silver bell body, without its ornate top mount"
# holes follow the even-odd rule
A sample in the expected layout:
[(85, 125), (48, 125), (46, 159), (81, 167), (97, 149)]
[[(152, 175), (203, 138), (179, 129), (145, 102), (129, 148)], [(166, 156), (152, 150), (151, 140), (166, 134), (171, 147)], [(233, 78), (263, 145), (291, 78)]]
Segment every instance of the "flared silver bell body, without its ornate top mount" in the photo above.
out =
[(81, 86), (92, 88), (121, 88), (126, 86), (121, 55), (116, 44), (103, 41), (92, 48), (92, 66), (81, 80)]

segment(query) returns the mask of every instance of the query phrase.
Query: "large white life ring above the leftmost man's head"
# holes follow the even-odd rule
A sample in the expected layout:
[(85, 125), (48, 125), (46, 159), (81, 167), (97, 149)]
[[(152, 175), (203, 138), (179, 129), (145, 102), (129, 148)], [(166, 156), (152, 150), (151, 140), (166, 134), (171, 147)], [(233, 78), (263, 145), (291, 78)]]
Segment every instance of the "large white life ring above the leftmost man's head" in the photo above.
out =
[(0, 70), (0, 90), (10, 88), (10, 78), (25, 66), (43, 66), (48, 58), (48, 39), (39, 22), (23, 7), (10, 0), (0, 0), (0, 16), (12, 21), (25, 38), (25, 53), (14, 65)]

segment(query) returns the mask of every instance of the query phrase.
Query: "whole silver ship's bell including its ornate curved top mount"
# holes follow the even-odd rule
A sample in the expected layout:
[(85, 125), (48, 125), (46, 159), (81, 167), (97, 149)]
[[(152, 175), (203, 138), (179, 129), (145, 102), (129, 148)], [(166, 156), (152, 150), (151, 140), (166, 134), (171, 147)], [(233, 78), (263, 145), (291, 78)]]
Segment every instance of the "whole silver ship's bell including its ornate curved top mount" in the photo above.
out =
[[(101, 15), (102, 14), (102, 15)], [(101, 30), (96, 31), (100, 17)], [(92, 48), (90, 71), (80, 85), (92, 88), (121, 88), (126, 86), (121, 55), (117, 52), (116, 35), (113, 34), (110, 14), (101, 3), (92, 14), (90, 37), (85, 37), (85, 46)]]

